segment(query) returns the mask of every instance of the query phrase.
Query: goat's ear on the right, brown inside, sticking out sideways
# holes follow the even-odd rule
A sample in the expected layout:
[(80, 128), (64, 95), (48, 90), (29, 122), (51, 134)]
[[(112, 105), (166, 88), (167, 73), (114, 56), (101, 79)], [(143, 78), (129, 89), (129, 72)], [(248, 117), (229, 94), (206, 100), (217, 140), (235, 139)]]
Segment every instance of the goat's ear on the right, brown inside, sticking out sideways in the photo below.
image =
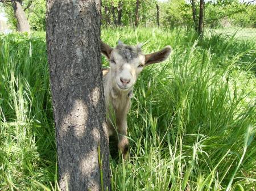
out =
[(159, 50), (151, 54), (145, 55), (145, 66), (150, 65), (151, 63), (163, 62), (168, 58), (172, 52), (171, 46), (166, 46), (164, 49)]

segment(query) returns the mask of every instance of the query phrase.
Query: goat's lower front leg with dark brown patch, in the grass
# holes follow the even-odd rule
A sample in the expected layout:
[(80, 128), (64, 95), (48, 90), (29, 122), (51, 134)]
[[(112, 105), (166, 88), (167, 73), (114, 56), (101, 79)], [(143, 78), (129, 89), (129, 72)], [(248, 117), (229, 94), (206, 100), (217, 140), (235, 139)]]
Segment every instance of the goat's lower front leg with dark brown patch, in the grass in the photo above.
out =
[(123, 159), (127, 159), (129, 141), (127, 135), (127, 122), (118, 127), (118, 149), (122, 152)]

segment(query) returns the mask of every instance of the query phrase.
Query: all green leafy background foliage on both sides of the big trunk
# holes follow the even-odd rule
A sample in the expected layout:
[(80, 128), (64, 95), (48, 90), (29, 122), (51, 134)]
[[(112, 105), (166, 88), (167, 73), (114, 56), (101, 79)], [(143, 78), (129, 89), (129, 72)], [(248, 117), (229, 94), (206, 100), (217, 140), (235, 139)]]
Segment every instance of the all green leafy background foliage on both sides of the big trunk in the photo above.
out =
[[(31, 0), (23, 0), (26, 7)], [(156, 26), (156, 3), (159, 4), (160, 26), (164, 28), (193, 27), (192, 7), (190, 1), (156, 0), (139, 1), (139, 25), (144, 27)], [(196, 2), (197, 17), (199, 1)], [(9, 23), (16, 28), (16, 20), (10, 3), (4, 4)], [(136, 0), (102, 0), (102, 26), (134, 26)], [(31, 6), (25, 13), (31, 28), (35, 31), (46, 29), (46, 0), (32, 0)], [(118, 12), (120, 23), (118, 23)], [(205, 3), (205, 27), (256, 27), (256, 5), (240, 3), (238, 0), (212, 0)], [(198, 20), (198, 19), (197, 19)]]

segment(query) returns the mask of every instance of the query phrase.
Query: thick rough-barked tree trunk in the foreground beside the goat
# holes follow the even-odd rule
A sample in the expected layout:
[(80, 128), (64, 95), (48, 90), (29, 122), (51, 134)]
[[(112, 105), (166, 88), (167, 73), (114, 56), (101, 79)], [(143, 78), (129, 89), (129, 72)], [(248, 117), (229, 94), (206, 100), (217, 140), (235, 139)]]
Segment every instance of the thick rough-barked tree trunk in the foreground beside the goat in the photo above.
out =
[(61, 190), (110, 190), (100, 11), (100, 0), (47, 0), (47, 52)]

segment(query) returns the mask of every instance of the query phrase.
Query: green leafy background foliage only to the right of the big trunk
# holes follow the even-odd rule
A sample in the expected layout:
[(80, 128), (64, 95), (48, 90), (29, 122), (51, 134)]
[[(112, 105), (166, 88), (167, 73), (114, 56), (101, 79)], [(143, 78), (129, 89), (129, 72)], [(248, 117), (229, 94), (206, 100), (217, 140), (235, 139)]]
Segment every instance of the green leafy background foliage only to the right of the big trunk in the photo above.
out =
[[(139, 23), (141, 26), (156, 26), (156, 1), (140, 1)], [(197, 17), (199, 1), (196, 1)], [(169, 0), (158, 2), (160, 7), (160, 26), (166, 28), (193, 27), (192, 6), (189, 1)], [(136, 1), (102, 1), (103, 26), (115, 25), (113, 18), (122, 9), (122, 26), (133, 26)], [(205, 27), (254, 27), (256, 5), (240, 3), (238, 0), (207, 1), (205, 3)], [(114, 14), (113, 16), (113, 9)], [(198, 19), (197, 19), (198, 20)]]

